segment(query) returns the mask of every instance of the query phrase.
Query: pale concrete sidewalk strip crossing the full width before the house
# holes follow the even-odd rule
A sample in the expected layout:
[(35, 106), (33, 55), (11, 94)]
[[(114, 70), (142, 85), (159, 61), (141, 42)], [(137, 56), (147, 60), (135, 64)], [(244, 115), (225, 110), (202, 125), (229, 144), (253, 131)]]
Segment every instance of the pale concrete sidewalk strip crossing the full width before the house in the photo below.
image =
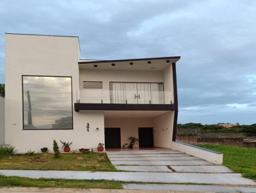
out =
[(205, 173), (155, 173), (155, 172), (92, 172), (92, 171), (36, 171), (36, 170), (0, 170), (4, 176), (28, 178), (63, 178), (74, 180), (115, 180), (152, 183), (205, 183), (227, 185), (256, 185), (241, 174), (205, 174)]

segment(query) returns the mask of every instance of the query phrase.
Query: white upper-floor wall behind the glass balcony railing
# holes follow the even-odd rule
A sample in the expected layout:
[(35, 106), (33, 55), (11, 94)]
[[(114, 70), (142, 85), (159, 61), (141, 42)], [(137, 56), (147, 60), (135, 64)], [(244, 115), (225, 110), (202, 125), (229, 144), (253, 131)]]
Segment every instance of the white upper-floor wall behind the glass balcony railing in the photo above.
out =
[[(144, 71), (144, 70), (92, 70), (81, 69), (79, 71), (79, 84), (80, 84), (80, 102), (83, 102), (85, 98), (93, 103), (99, 103), (101, 99), (103, 103), (110, 102), (109, 96), (109, 82), (164, 82), (164, 90), (170, 91), (173, 86), (170, 85), (170, 72), (171, 68), (166, 68), (163, 71)], [(166, 75), (164, 75), (166, 74)], [(102, 81), (103, 89), (83, 89), (83, 81)], [(168, 88), (170, 87), (170, 88)], [(89, 95), (92, 96), (88, 98)], [(165, 96), (166, 104), (170, 103), (170, 94)], [(87, 101), (84, 101), (87, 102)]]

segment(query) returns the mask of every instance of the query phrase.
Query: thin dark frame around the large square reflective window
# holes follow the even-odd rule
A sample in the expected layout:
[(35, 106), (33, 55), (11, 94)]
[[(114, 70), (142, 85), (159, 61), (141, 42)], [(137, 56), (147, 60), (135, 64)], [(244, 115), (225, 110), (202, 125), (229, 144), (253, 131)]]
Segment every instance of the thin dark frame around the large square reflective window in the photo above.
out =
[[(71, 109), (72, 109), (72, 128), (24, 128), (24, 94), (23, 94), (23, 77), (63, 77), (71, 79)], [(73, 114), (73, 83), (70, 76), (59, 75), (21, 75), (22, 88), (22, 130), (74, 130), (74, 114)]]

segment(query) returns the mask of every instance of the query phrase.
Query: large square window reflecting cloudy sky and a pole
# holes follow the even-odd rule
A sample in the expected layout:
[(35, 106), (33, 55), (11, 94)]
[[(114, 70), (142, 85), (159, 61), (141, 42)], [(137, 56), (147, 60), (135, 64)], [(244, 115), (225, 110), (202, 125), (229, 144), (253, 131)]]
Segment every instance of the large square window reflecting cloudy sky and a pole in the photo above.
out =
[(72, 78), (22, 76), (23, 129), (73, 129)]

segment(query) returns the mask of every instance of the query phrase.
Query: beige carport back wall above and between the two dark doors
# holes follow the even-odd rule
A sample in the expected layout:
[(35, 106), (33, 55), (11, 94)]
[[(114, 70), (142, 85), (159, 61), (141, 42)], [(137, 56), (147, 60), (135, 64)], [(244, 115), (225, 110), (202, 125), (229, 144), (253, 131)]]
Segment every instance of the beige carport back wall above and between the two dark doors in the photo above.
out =
[[(128, 137), (136, 137), (139, 139), (139, 127), (153, 127), (152, 119), (106, 119), (105, 128), (116, 127), (120, 128), (121, 132), (121, 146), (129, 143)], [(134, 144), (134, 148), (139, 148), (139, 143)]]

